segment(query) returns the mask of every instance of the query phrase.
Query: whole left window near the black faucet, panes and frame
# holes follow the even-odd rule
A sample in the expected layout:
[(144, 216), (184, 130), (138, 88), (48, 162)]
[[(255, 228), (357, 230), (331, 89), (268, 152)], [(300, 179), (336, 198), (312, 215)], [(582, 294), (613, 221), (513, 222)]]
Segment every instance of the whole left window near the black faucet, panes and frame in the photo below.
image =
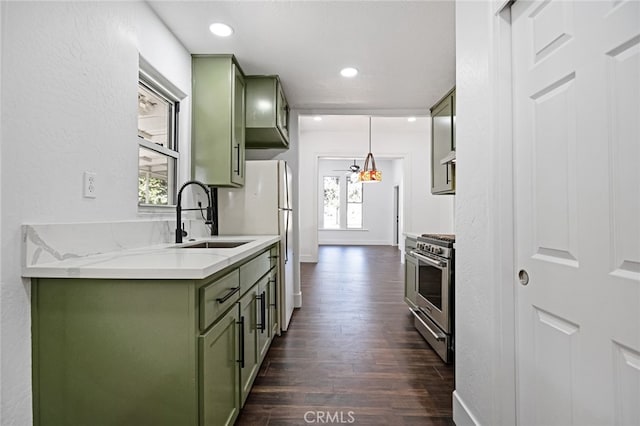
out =
[(178, 112), (172, 94), (140, 78), (138, 82), (138, 204), (175, 204), (178, 168)]

